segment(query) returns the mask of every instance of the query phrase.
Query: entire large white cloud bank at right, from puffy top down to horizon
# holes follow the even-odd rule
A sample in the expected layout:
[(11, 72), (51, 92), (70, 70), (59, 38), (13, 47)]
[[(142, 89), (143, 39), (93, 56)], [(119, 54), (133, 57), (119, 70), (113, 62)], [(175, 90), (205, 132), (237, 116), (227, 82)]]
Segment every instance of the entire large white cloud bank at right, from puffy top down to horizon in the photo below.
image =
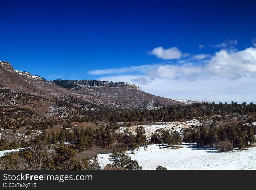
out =
[[(193, 59), (195, 56), (208, 59)], [(256, 48), (225, 49), (211, 56), (194, 55), (178, 63), (111, 69), (115, 76), (99, 79), (134, 83), (145, 92), (169, 98), (256, 102)], [(126, 75), (120, 75), (120, 71)]]

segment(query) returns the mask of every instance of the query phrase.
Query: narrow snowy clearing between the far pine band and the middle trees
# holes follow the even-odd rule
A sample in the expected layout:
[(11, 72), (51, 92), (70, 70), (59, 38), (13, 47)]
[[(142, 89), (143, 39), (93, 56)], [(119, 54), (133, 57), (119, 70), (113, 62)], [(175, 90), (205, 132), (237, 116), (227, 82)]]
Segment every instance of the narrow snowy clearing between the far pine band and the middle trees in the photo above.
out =
[[(176, 131), (180, 132), (181, 129), (189, 128), (191, 125), (198, 126), (200, 124), (201, 123), (199, 121), (189, 120), (189, 121), (186, 121), (186, 122), (177, 122), (177, 121), (175, 121), (175, 122), (166, 122), (166, 123), (156, 122), (152, 125), (150, 125), (150, 124), (147, 124), (147, 125), (133, 125), (133, 126), (130, 126), (128, 128), (129, 128), (129, 131), (131, 133), (135, 134), (136, 128), (139, 127), (139, 126), (143, 126), (143, 128), (146, 131), (146, 133), (145, 133), (146, 137), (150, 138), (151, 134), (155, 133), (155, 131), (157, 129), (165, 129), (165, 130), (169, 129), (171, 131), (176, 130)], [(172, 128), (174, 128), (174, 129), (172, 130)], [(117, 129), (115, 131), (118, 132), (118, 133), (124, 133), (125, 130), (126, 130), (126, 127), (120, 127), (120, 129)]]

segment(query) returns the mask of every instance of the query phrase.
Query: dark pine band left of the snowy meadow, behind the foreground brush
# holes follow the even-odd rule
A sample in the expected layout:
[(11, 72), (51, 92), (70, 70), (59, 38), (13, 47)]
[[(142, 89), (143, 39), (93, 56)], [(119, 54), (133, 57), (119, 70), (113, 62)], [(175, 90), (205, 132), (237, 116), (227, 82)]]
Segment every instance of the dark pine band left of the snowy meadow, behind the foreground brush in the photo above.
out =
[(29, 145), (33, 146), (40, 141), (60, 145), (69, 142), (70, 146), (78, 151), (93, 146), (108, 149), (112, 147), (115, 151), (127, 151), (148, 143), (143, 126), (137, 127), (135, 134), (131, 133), (128, 128), (125, 133), (116, 133), (115, 129), (119, 129), (119, 126), (110, 124), (105, 128), (92, 129), (87, 127), (85, 130), (79, 128), (71, 130), (63, 127), (60, 132), (52, 131), (51, 134), (44, 130), (42, 135), (36, 136)]

